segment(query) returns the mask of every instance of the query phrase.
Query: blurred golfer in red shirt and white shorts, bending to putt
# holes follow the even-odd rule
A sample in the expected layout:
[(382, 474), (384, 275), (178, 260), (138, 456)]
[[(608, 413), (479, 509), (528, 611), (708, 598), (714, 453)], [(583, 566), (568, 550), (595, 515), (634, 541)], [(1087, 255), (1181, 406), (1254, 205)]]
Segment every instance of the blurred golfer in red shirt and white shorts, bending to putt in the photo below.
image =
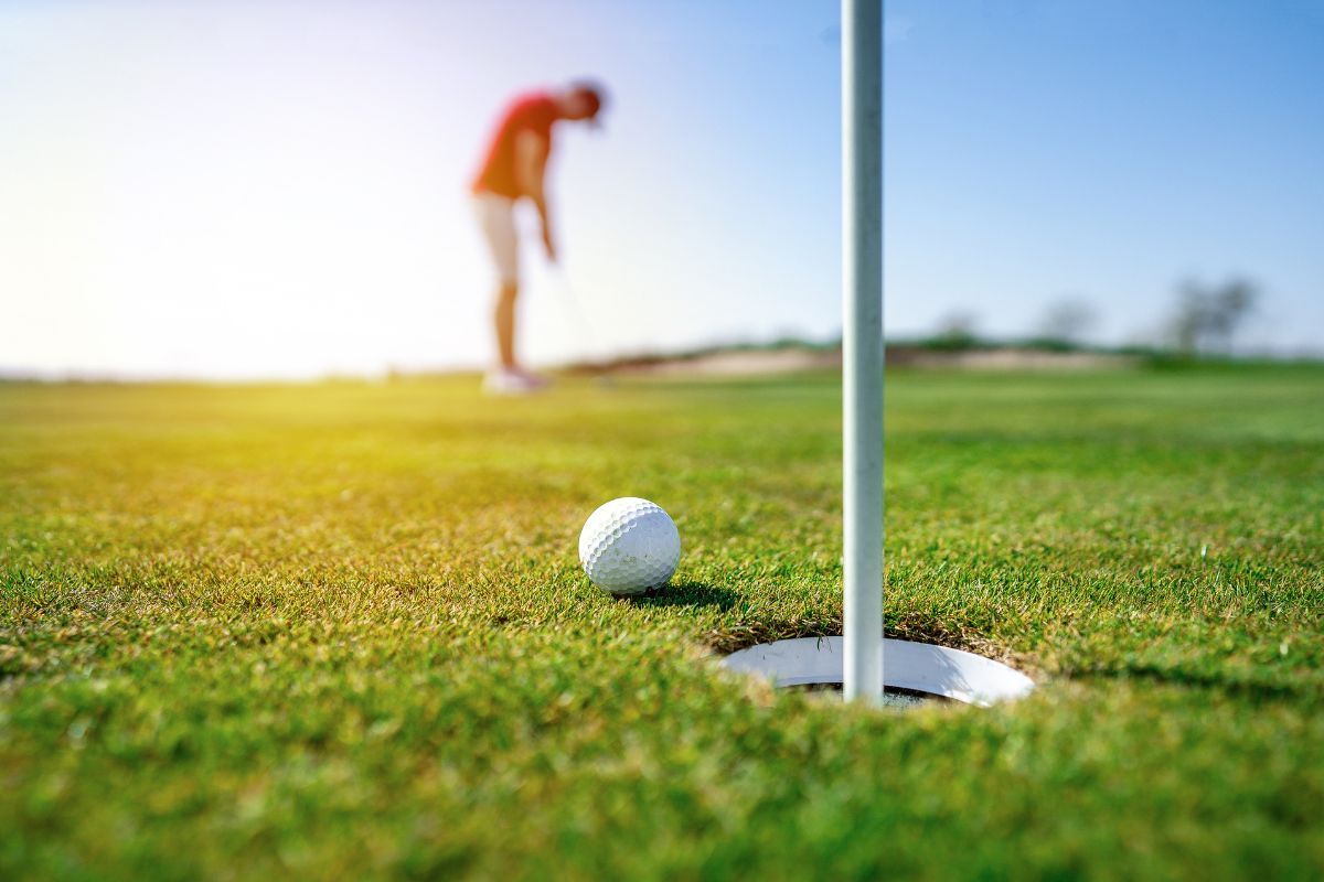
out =
[(552, 130), (563, 119), (596, 122), (602, 108), (602, 90), (592, 83), (572, 83), (559, 91), (519, 95), (502, 114), (478, 177), (474, 179), (474, 212), (496, 268), (496, 352), (499, 362), (487, 374), (485, 387), (495, 394), (536, 391), (547, 385), (528, 373), (515, 357), (515, 299), (519, 296), (519, 238), (515, 204), (527, 198), (538, 209), (547, 259), (556, 261), (556, 235), (547, 204), (547, 159)]

